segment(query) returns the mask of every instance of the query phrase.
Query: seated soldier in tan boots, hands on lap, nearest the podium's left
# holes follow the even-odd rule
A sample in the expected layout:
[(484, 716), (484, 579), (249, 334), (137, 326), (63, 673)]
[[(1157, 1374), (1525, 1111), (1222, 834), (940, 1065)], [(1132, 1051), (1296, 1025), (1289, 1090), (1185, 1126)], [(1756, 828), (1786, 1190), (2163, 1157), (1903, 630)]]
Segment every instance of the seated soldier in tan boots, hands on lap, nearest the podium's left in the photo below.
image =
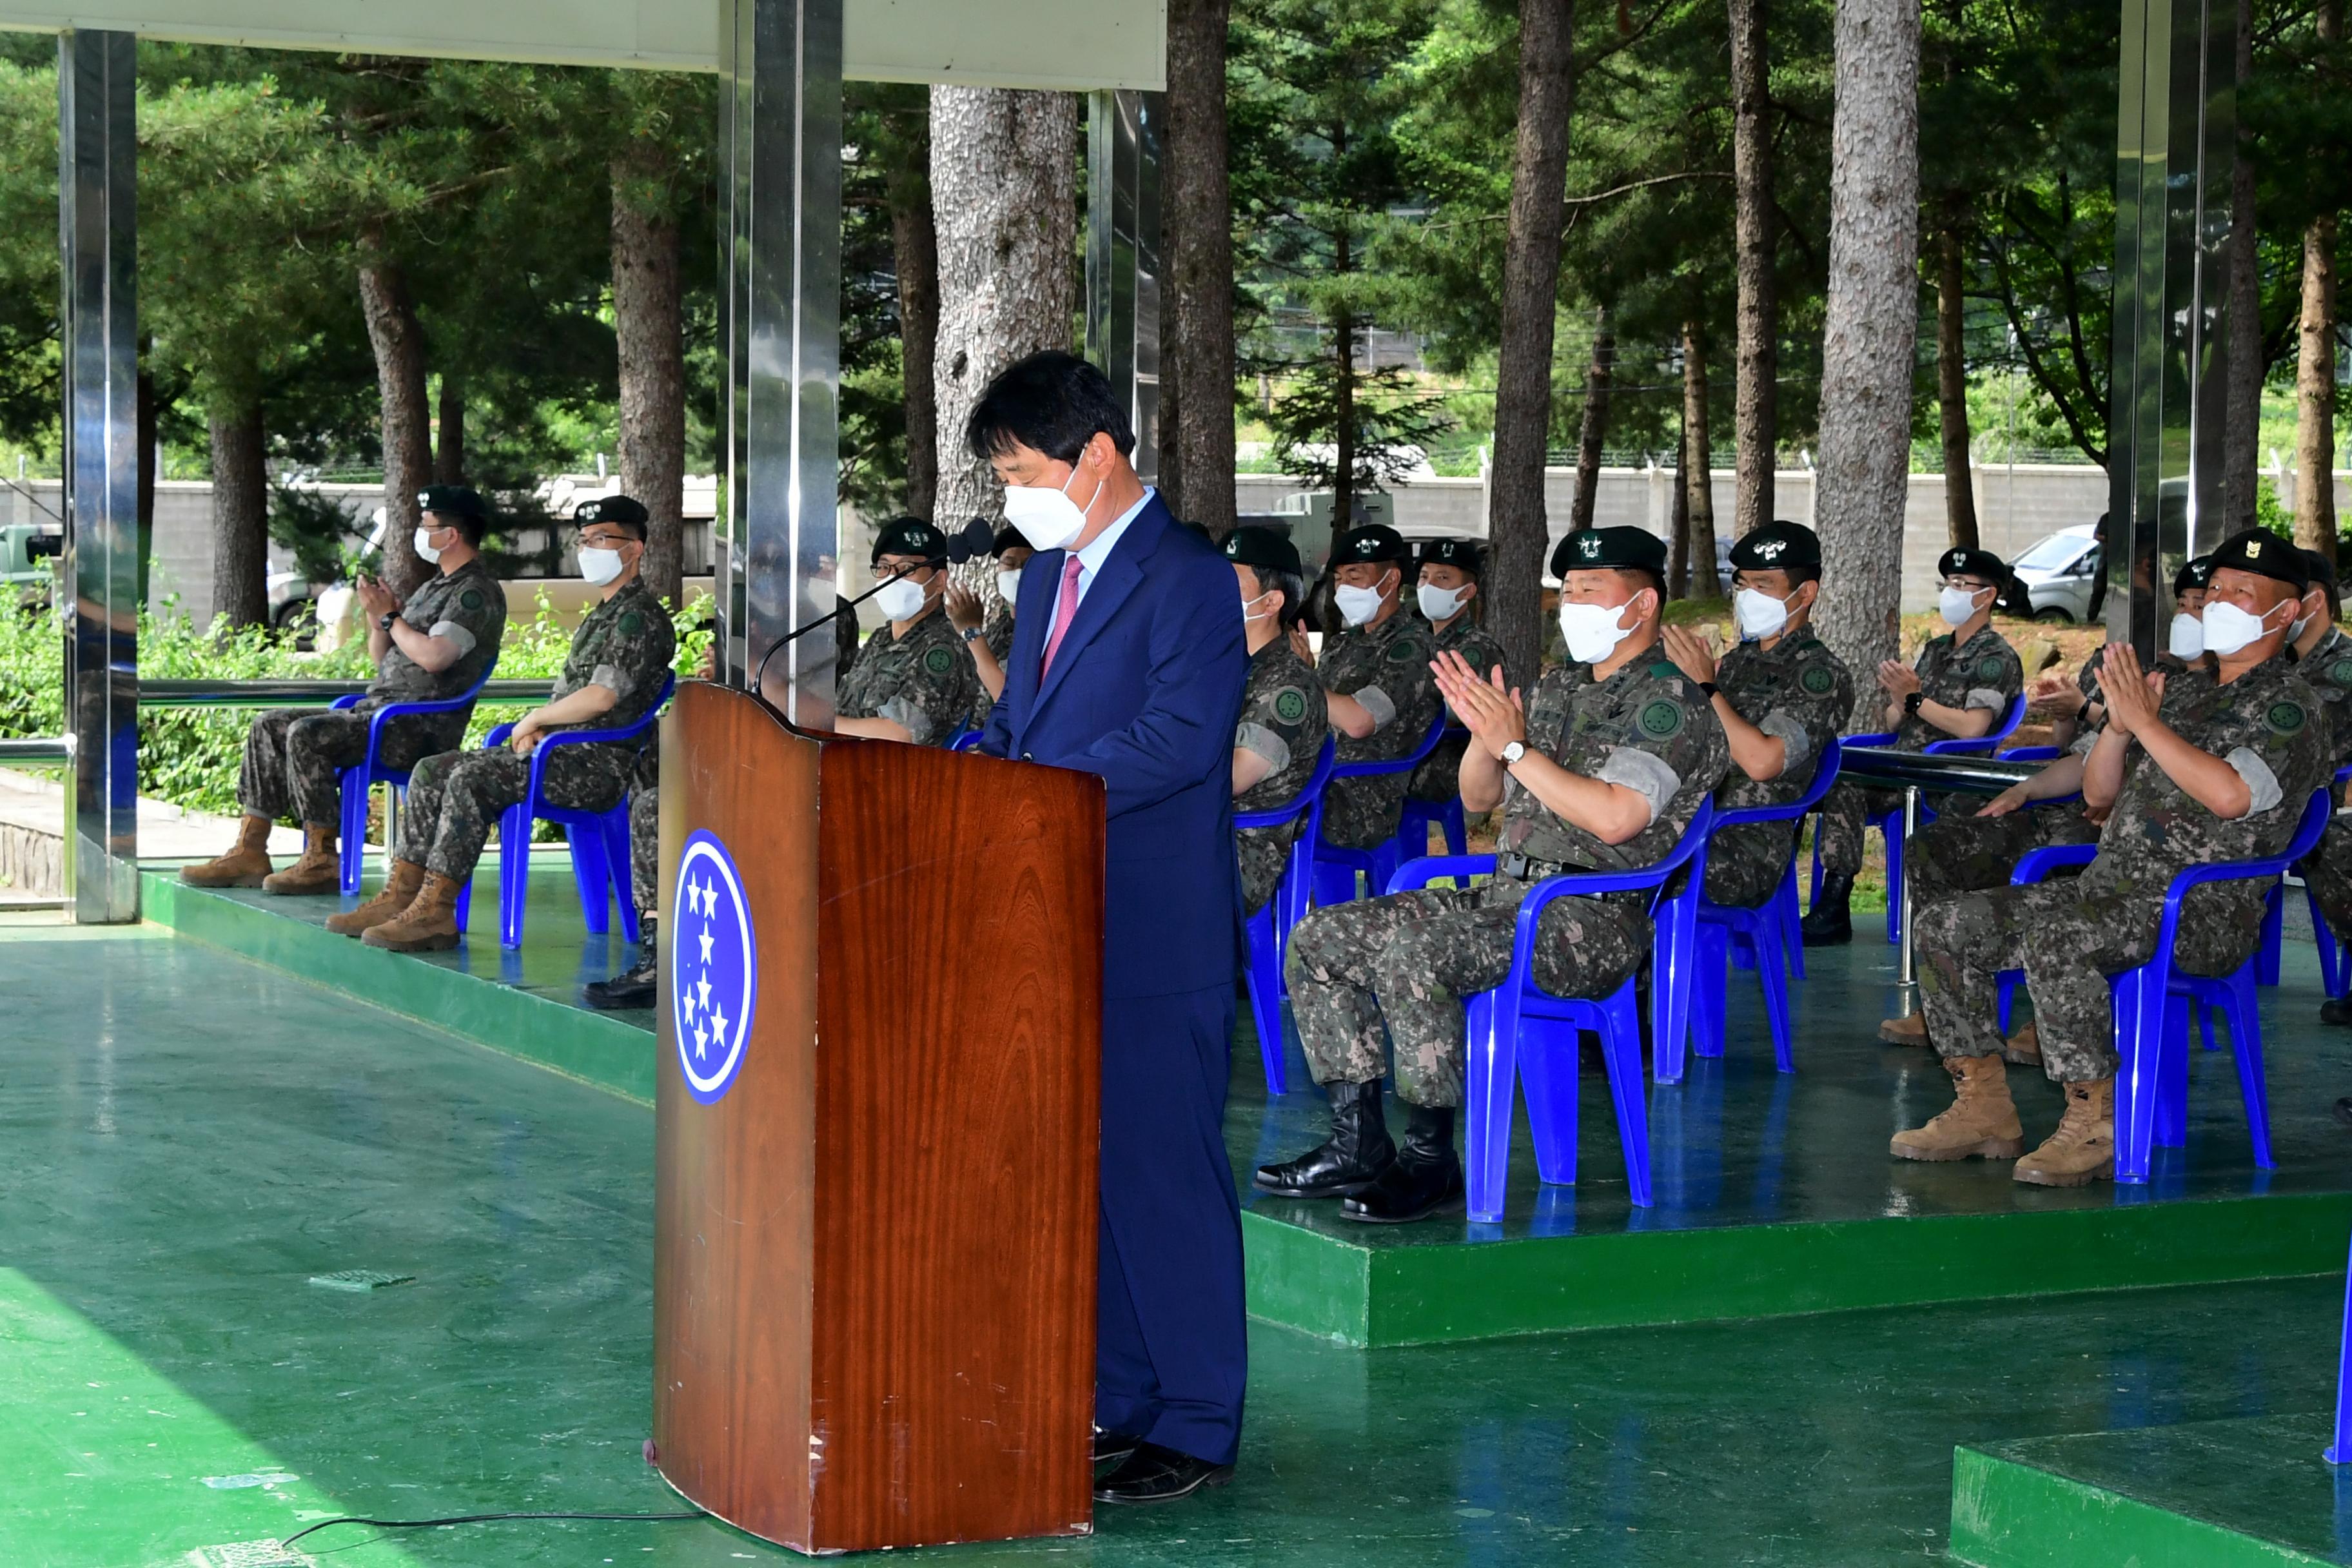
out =
[[(515, 719), (506, 745), (449, 750), (416, 764), (383, 891), (329, 917), (329, 931), (393, 952), (456, 947), (459, 889), (473, 879), (499, 813), (529, 792), (541, 738), (562, 729), (623, 729), (647, 715), (670, 675), (677, 635), (670, 611), (637, 578), (644, 520), (628, 496), (583, 501), (572, 512), (581, 576), (602, 602), (572, 632), (553, 698)], [(550, 804), (612, 811), (635, 769), (635, 741), (586, 741), (555, 748), (541, 783)]]

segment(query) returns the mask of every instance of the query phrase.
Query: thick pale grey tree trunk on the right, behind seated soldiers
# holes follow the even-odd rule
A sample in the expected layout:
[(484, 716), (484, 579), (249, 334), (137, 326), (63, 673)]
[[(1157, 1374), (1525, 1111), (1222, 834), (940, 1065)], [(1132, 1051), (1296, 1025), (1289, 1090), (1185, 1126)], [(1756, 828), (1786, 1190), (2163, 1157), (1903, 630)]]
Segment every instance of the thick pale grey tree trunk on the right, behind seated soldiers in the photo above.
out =
[(1919, 0), (1837, 2), (1835, 101), (1816, 621), (1849, 670), (1875, 670), (1900, 646), (1919, 331)]

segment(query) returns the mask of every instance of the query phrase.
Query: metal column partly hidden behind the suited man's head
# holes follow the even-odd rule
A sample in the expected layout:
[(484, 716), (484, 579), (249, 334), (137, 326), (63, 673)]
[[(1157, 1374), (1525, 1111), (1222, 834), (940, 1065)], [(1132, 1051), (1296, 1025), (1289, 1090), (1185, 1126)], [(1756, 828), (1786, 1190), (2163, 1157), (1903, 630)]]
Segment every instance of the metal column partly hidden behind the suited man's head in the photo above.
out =
[(1160, 477), (1162, 99), (1087, 94), (1087, 357), (1129, 400), (1145, 482)]

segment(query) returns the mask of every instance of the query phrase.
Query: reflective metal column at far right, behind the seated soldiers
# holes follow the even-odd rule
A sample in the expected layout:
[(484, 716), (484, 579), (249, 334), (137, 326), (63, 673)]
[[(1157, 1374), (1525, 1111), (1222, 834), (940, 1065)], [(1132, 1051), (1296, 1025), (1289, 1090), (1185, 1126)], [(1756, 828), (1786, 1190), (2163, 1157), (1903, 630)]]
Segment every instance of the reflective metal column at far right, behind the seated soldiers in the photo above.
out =
[(2107, 635), (2152, 658), (2173, 569), (2220, 543), (2237, 9), (2124, 0)]

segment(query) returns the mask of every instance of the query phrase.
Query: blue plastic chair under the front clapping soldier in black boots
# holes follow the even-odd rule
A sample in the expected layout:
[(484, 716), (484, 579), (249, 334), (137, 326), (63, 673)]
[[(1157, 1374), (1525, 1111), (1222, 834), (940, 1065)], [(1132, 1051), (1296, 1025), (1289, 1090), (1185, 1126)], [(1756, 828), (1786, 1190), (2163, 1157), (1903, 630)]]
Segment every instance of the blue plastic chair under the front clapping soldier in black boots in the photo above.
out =
[[(1618, 1145), (1625, 1154), (1625, 1187), (1637, 1208), (1651, 1206), (1649, 1190), (1649, 1098), (1642, 1084), (1642, 1013), (1639, 976), (1628, 976), (1602, 1001), (1552, 997), (1536, 987), (1536, 924), (1545, 905), (1566, 896), (1663, 889), (1677, 867), (1689, 867), (1689, 884), (1705, 877), (1708, 827), (1715, 802), (1700, 802), (1691, 825), (1656, 865), (1637, 872), (1566, 872), (1545, 877), (1519, 903), (1512, 938), (1510, 973), (1501, 985), (1468, 997), (1468, 1039), (1463, 1041), (1463, 1180), (1470, 1197), (1470, 1220), (1491, 1225), (1503, 1218), (1503, 1180), (1510, 1168), (1510, 1112), (1519, 1079), (1526, 1081), (1526, 1121), (1536, 1138), (1536, 1171), (1555, 1185), (1576, 1182), (1576, 1041), (1583, 1032), (1602, 1039), (1609, 1065), (1609, 1095), (1616, 1100)], [(1428, 886), (1437, 877), (1491, 872), (1494, 856), (1435, 856), (1414, 860), (1388, 882), (1390, 893)], [(1696, 905), (1696, 898), (1693, 898)], [(1656, 905), (1656, 907), (1663, 907)], [(1668, 933), (1661, 922), (1653, 964), (1668, 957)], [(1651, 983), (1651, 1004), (1658, 983)], [(1684, 983), (1686, 990), (1686, 983)], [(1519, 1048), (1526, 1034), (1526, 1051)]]

